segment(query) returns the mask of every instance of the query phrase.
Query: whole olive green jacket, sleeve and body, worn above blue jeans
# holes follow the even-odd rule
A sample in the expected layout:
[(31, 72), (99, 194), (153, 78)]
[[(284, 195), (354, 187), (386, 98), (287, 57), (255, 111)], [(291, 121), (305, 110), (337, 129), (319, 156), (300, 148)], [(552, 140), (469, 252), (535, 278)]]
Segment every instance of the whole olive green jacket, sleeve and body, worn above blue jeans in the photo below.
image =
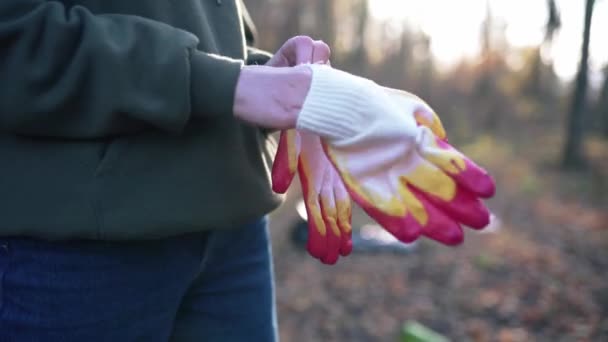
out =
[[(148, 239), (280, 202), (232, 105), (252, 28), (235, 0), (0, 1), (0, 236)], [(248, 39), (246, 39), (248, 38)]]

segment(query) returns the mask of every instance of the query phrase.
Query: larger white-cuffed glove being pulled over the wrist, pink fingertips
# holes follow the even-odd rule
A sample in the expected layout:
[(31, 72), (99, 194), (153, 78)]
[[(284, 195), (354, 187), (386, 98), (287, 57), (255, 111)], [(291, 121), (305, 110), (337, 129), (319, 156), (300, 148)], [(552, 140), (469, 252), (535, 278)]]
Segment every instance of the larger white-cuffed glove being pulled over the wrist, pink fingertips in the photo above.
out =
[(397, 239), (463, 241), (461, 224), (483, 228), (492, 178), (451, 147), (419, 98), (327, 66), (312, 83), (297, 128), (323, 148), (352, 199)]

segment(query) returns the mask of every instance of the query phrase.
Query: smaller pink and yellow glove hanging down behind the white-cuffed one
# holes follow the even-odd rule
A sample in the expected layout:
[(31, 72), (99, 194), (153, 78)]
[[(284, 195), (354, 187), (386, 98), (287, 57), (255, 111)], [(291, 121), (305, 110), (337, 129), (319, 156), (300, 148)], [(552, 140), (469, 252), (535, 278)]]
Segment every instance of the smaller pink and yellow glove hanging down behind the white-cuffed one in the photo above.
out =
[(352, 250), (351, 203), (340, 176), (327, 159), (319, 136), (281, 131), (272, 165), (272, 188), (284, 193), (298, 172), (308, 215), (307, 250), (326, 264)]

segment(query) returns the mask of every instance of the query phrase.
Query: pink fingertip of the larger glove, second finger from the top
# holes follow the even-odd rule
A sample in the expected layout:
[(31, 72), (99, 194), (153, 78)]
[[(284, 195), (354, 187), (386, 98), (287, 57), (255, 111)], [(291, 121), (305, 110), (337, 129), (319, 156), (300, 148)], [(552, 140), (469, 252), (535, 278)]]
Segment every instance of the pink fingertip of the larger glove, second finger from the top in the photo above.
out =
[(472, 192), (461, 185), (451, 201), (426, 195), (427, 199), (447, 215), (473, 229), (483, 229), (490, 223), (490, 210)]

